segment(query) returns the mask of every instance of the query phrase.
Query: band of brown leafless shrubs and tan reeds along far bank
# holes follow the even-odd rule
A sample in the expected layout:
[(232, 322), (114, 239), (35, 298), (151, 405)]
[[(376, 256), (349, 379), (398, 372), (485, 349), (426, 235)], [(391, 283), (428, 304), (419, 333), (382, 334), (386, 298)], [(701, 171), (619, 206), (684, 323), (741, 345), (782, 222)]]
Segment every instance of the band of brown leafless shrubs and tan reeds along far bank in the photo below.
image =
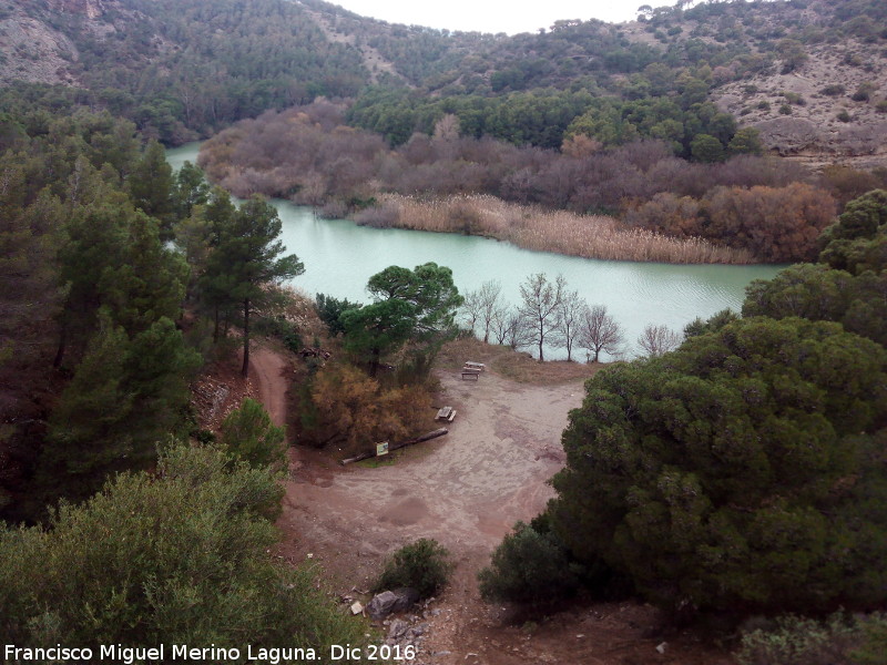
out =
[[(801, 259), (834, 213), (830, 196), (805, 184), (812, 176), (773, 158), (689, 163), (651, 141), (610, 151), (570, 143), (561, 153), (446, 127), (391, 151), (381, 136), (345, 126), (344, 112), (330, 102), (266, 112), (207, 141), (201, 165), (238, 196), (261, 192), (371, 226), (610, 259)], [(635, 228), (590, 211), (634, 211)]]

